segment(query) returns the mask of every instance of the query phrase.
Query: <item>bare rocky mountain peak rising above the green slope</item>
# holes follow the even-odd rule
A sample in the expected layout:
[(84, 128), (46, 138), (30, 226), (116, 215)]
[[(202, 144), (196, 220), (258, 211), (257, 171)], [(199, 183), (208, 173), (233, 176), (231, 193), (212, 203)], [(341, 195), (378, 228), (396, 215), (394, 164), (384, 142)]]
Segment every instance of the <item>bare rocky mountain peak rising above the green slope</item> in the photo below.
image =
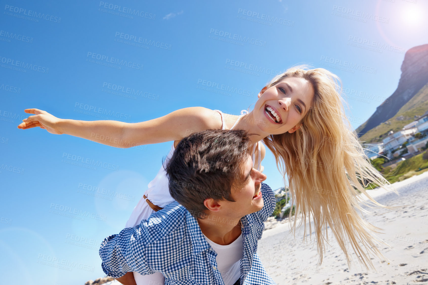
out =
[[(398, 87), (375, 113), (356, 129), (361, 137), (377, 125), (388, 121), (428, 83), (428, 44), (412, 47), (404, 55)], [(390, 103), (391, 102), (391, 103)], [(390, 104), (389, 104), (390, 103)]]

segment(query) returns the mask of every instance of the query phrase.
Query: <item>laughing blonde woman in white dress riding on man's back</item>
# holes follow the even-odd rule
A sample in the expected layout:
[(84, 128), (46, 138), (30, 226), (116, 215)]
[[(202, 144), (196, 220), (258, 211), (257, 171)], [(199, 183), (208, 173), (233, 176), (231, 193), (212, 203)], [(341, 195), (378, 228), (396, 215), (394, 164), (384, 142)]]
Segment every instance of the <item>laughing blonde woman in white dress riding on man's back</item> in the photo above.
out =
[[(203, 107), (184, 108), (139, 123), (59, 119), (42, 110), (26, 109), (25, 112), (35, 115), (24, 119), (18, 128), (40, 127), (52, 134), (69, 134), (118, 148), (174, 141), (169, 155), (189, 132), (243, 129), (253, 134), (250, 137), (254, 144), (253, 165), (262, 170), (260, 163), (265, 154), (262, 141), (275, 156), (278, 169), (288, 177), (292, 204), (296, 205), (296, 213), (303, 215), (305, 237), (306, 217), (309, 215), (310, 221), (312, 216), (319, 264), (328, 241), (329, 226), (348, 265), (350, 244), (360, 263), (369, 268), (373, 267), (369, 252), (383, 258), (376, 247), (377, 241), (383, 242), (372, 235), (380, 229), (359, 216), (357, 210), (364, 211), (359, 205), (363, 202), (359, 194), (385, 207), (372, 199), (364, 187), (370, 182), (380, 186), (389, 182), (371, 165), (357, 135), (350, 131), (339, 83), (339, 77), (324, 68), (299, 65), (264, 86), (251, 112), (243, 110), (241, 116), (227, 115), (228, 120), (221, 111)], [(114, 140), (102, 140), (105, 136)], [(163, 167), (148, 188), (134, 208), (127, 227), (137, 225), (174, 201)], [(292, 225), (294, 234), (296, 221)], [(312, 232), (310, 223), (309, 232)], [(134, 273), (137, 284), (143, 284), (143, 279), (149, 277), (138, 275)]]

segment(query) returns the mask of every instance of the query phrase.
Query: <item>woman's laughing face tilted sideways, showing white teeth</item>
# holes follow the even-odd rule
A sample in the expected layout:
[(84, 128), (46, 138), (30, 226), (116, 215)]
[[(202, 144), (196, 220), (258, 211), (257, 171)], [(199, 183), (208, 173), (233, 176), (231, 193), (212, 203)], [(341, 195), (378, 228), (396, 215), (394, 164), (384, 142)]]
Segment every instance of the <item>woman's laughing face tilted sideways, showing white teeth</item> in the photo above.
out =
[(264, 88), (254, 106), (255, 118), (264, 121), (262, 131), (269, 134), (293, 133), (308, 113), (314, 98), (312, 84), (306, 79), (285, 77), (280, 82)]

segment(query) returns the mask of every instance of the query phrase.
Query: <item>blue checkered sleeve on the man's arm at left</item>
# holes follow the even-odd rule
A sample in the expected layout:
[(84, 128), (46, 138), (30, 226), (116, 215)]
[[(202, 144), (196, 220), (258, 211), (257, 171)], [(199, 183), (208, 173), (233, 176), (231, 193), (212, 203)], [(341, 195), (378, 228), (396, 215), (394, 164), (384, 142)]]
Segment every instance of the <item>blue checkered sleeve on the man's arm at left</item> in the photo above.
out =
[(123, 229), (119, 235), (110, 235), (101, 243), (98, 251), (101, 267), (107, 276), (119, 278), (127, 272), (136, 271), (142, 275), (155, 273), (146, 256), (146, 234), (141, 227)]

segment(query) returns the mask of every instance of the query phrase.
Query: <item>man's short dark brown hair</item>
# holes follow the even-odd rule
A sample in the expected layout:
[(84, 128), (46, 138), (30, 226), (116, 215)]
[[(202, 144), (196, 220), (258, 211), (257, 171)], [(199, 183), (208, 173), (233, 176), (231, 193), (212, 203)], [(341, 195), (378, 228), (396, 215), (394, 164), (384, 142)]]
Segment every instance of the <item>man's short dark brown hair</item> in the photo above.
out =
[(207, 130), (185, 137), (164, 166), (172, 198), (197, 218), (205, 217), (207, 198), (235, 202), (232, 184), (244, 182), (250, 146), (244, 130)]

